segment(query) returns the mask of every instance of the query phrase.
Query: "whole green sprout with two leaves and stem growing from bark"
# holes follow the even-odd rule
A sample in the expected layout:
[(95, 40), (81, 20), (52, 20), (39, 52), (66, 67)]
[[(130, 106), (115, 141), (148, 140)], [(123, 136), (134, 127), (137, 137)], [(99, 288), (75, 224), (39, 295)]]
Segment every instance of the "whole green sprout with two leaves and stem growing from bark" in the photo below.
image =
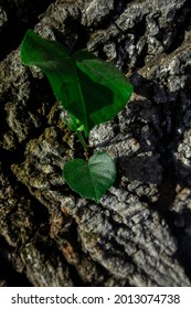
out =
[(132, 93), (131, 84), (115, 65), (84, 50), (71, 53), (32, 30), (22, 41), (21, 60), (46, 75), (55, 97), (70, 115), (66, 125), (76, 131), (85, 150), (86, 160), (67, 162), (63, 178), (72, 190), (98, 203), (114, 184), (116, 167), (106, 152), (96, 152), (88, 159), (85, 138), (94, 126), (113, 119), (124, 108)]

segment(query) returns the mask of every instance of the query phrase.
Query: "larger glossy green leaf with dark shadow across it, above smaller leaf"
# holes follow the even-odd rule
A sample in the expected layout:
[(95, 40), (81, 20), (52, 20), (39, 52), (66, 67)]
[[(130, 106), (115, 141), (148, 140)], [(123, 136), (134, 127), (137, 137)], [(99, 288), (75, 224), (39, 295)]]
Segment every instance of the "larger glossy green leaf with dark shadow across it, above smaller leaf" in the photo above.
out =
[(44, 40), (32, 30), (22, 41), (21, 60), (42, 70), (71, 115), (72, 127), (84, 128), (86, 137), (95, 125), (113, 119), (132, 93), (131, 84), (113, 64), (86, 51), (71, 54), (64, 45)]

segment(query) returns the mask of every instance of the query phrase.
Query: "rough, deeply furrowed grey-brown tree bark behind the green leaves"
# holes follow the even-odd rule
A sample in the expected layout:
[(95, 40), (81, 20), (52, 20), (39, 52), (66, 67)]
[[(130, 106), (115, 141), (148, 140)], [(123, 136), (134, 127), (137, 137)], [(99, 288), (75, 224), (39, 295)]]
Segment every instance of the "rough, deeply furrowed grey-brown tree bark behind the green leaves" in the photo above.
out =
[[(190, 2), (41, 2), (0, 1), (1, 286), (191, 286)], [(91, 132), (118, 167), (99, 204), (61, 177), (83, 149), (45, 77), (21, 64), (13, 15), (22, 35), (87, 49), (135, 86)]]

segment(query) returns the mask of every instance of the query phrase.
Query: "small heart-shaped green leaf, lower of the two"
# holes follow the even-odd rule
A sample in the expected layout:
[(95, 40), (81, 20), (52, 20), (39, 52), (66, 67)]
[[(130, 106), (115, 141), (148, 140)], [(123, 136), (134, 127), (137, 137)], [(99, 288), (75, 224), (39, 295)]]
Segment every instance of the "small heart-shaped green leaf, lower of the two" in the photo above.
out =
[(67, 162), (63, 178), (72, 190), (98, 203), (115, 181), (116, 167), (107, 153), (98, 152), (88, 161), (74, 159)]

